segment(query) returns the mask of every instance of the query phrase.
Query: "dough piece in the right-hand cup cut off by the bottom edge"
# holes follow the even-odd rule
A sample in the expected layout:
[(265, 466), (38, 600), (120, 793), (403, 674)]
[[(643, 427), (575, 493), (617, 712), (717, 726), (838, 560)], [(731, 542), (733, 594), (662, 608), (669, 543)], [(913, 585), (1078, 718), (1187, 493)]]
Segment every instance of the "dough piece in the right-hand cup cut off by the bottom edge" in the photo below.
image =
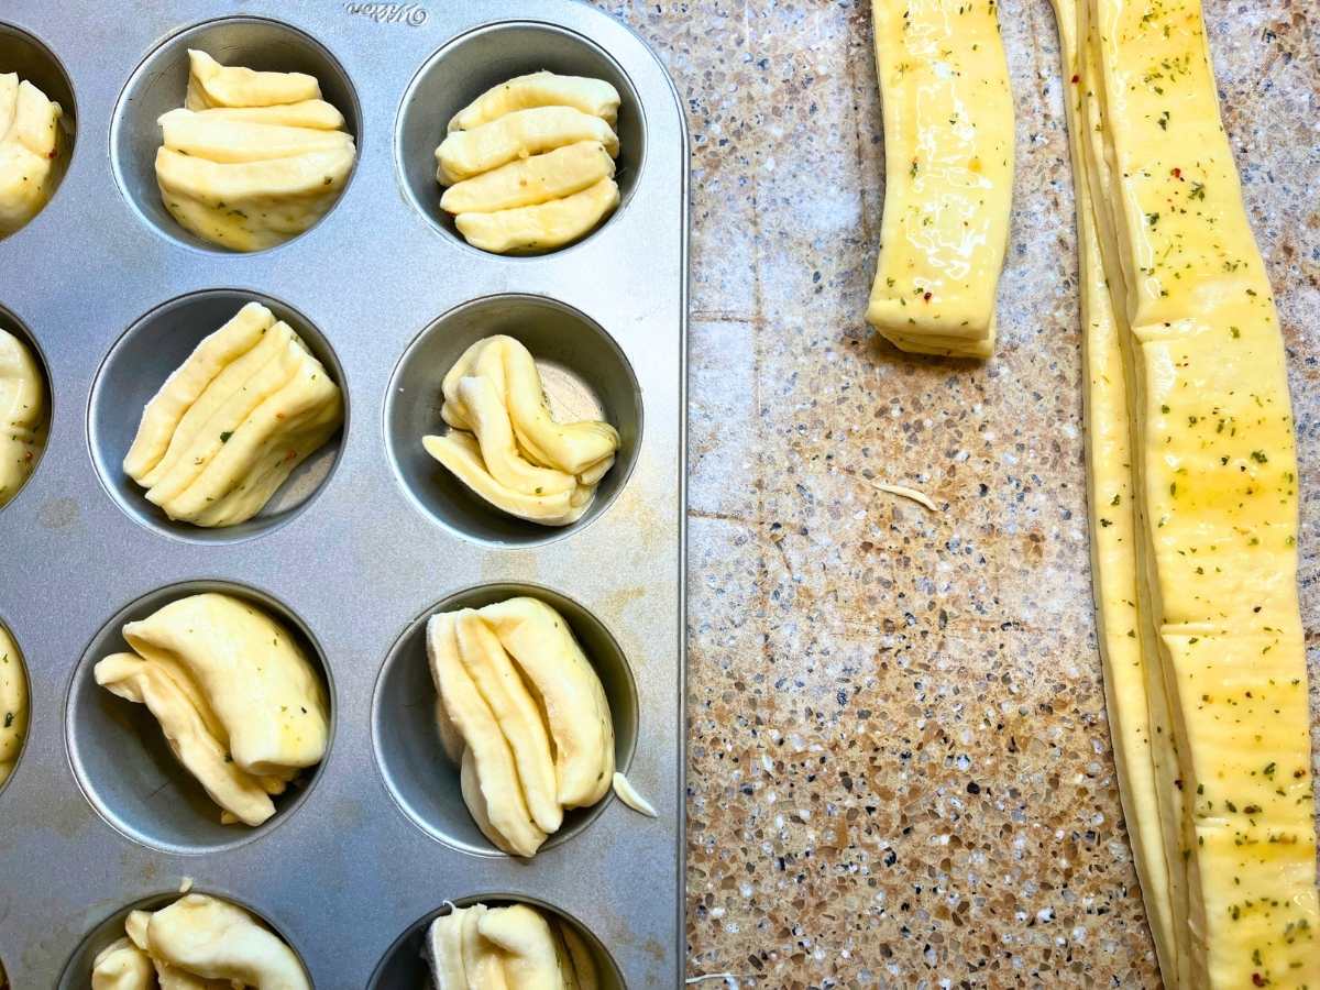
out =
[(430, 923), (436, 990), (595, 990), (595, 961), (577, 929), (527, 904), (454, 908)]

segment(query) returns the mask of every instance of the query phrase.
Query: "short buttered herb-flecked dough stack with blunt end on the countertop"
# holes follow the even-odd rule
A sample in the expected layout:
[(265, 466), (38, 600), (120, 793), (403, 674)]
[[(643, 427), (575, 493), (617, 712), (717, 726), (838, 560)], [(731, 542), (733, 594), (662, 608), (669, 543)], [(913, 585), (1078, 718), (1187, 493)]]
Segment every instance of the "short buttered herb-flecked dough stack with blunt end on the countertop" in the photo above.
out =
[(1012, 201), (997, 5), (873, 0), (884, 218), (866, 321), (904, 351), (989, 358)]

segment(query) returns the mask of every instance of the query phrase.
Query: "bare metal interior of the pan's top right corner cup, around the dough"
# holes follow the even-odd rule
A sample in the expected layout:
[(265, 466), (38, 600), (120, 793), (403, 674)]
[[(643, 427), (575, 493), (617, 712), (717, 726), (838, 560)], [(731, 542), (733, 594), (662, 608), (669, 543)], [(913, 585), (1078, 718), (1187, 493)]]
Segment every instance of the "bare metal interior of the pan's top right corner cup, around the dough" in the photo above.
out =
[[(581, 244), (605, 230), (632, 198), (645, 160), (647, 128), (642, 100), (622, 66), (595, 42), (566, 28), (533, 21), (490, 24), (455, 38), (426, 59), (404, 94), (395, 133), (395, 153), (408, 197), (436, 228), (465, 247), (467, 242), (454, 226), (454, 218), (440, 209), (444, 190), (436, 181), (436, 148), (445, 139), (454, 114), (486, 90), (543, 69), (560, 75), (603, 79), (619, 91), (620, 98), (615, 128), (619, 157), (614, 177), (619, 183), (619, 206), (612, 216), (576, 243)], [(540, 253), (569, 247), (572, 244)], [(484, 251), (480, 253), (490, 257)]]

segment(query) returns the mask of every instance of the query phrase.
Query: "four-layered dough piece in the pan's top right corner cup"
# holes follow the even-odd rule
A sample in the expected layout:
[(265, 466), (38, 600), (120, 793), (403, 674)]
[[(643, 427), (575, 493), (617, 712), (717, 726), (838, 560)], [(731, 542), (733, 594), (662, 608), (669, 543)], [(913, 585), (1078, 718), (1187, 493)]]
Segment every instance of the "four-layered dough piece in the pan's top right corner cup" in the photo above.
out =
[(543, 71), (487, 90), (436, 149), (441, 209), (494, 253), (577, 240), (619, 205), (618, 114), (619, 92), (602, 79)]

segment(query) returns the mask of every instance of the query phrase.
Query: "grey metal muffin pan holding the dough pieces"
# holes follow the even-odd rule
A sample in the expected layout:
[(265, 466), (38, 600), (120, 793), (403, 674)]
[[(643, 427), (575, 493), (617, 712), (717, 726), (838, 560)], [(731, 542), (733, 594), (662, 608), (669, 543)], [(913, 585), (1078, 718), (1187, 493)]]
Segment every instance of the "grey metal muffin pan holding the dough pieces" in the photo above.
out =
[[(358, 140), (339, 202), (281, 247), (216, 251), (153, 198), (153, 120), (181, 102), (182, 53), (198, 44), (315, 73)], [(49, 87), (75, 136), (50, 205), (0, 240), (0, 319), (36, 345), (53, 407), (44, 455), (0, 510), (0, 622), (32, 709), (0, 789), (0, 962), (15, 990), (86, 986), (124, 912), (177, 896), (183, 876), (279, 931), (318, 990), (414, 990), (425, 923), (477, 899), (561, 912), (590, 936), (603, 986), (677, 986), (688, 144), (659, 61), (572, 0), (393, 15), (144, 0), (114, 16), (90, 0), (9, 0), (5, 58)], [(623, 95), (623, 203), (572, 247), (487, 255), (438, 213), (433, 150), (454, 110), (543, 67)], [(119, 461), (144, 399), (249, 298), (335, 376), (345, 429), (244, 527), (174, 524)], [(619, 461), (572, 527), (502, 517), (420, 451), (441, 429), (447, 362), (486, 333), (525, 341), (548, 378), (620, 428)], [(326, 759), (260, 829), (222, 828), (147, 713), (91, 680), (125, 620), (203, 587), (282, 618), (330, 692)], [(426, 737), (420, 640), (441, 605), (523, 591), (565, 611), (614, 706), (620, 768), (660, 813), (607, 799), (531, 862), (467, 821)]]

